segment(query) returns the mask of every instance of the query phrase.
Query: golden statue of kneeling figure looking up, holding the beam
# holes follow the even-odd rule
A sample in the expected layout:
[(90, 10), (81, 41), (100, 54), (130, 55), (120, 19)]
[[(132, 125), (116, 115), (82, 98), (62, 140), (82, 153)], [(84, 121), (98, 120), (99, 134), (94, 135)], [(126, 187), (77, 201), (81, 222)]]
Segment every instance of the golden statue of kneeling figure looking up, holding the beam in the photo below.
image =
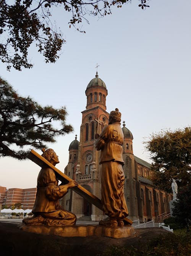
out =
[[(58, 156), (53, 149), (42, 149), (42, 157), (48, 160), (53, 166), (59, 163)], [(66, 185), (59, 185), (55, 172), (52, 168), (44, 165), (37, 178), (37, 194), (34, 207), (32, 209), (33, 217), (24, 219), (26, 225), (44, 224), (47, 226), (75, 225), (76, 215), (70, 211), (61, 209), (59, 199), (67, 192), (68, 188), (78, 186), (74, 180)]]

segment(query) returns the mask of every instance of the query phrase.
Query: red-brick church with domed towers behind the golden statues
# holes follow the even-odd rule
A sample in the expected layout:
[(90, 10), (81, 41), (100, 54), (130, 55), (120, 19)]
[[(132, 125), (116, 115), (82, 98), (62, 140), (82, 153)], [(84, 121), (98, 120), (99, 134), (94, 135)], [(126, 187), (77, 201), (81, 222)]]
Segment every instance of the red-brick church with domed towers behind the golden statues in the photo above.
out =
[[(100, 134), (108, 124), (106, 111), (107, 88), (96, 73), (86, 88), (86, 110), (82, 111), (80, 139), (73, 140), (69, 146), (69, 160), (65, 174), (76, 180), (96, 197), (100, 194), (100, 152), (95, 149), (94, 135)], [(113, 107), (115, 109), (115, 106)], [(123, 122), (123, 166), (125, 174), (124, 193), (131, 220), (141, 222), (155, 220), (158, 215), (170, 213), (169, 202), (172, 195), (153, 187), (151, 164), (133, 154), (133, 135)], [(62, 207), (72, 211), (77, 218), (85, 216), (89, 220), (102, 220), (106, 216), (83, 197), (70, 190), (62, 199)]]

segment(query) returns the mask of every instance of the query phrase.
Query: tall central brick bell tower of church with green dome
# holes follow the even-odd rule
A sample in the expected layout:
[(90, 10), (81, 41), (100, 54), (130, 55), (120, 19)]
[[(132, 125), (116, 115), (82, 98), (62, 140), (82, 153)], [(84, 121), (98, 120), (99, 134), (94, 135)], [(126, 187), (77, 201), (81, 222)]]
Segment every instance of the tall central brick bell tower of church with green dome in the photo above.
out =
[[(79, 185), (86, 188), (96, 197), (100, 194), (100, 165), (99, 154), (95, 149), (95, 134), (100, 134), (104, 126), (108, 124), (109, 113), (106, 111), (107, 88), (96, 72), (86, 88), (86, 110), (82, 111), (82, 123), (80, 127), (80, 141), (78, 146), (78, 168), (76, 180)], [(74, 193), (72, 211), (79, 218), (86, 216), (91, 220), (100, 220), (103, 213), (94, 205), (90, 205), (84, 198)]]

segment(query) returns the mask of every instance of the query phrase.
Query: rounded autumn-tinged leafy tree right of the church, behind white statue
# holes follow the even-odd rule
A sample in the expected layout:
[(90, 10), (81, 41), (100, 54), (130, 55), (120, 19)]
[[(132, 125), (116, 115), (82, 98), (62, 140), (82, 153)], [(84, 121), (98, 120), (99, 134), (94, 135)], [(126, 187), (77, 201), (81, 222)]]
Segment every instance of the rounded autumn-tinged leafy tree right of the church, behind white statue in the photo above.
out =
[(144, 143), (153, 160), (152, 181), (156, 187), (172, 192), (172, 178), (178, 188), (191, 180), (191, 127), (152, 134)]

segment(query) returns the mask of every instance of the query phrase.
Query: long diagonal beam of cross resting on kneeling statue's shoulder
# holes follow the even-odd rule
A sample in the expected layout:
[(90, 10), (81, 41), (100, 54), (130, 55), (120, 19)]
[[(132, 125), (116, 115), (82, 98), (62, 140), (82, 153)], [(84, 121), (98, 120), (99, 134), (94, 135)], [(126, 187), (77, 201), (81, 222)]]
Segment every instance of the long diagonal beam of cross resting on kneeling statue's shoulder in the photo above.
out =
[[(60, 180), (63, 183), (68, 183), (70, 181), (72, 181), (71, 178), (69, 178), (67, 175), (65, 175), (63, 172), (61, 172), (60, 170), (58, 170), (58, 168), (56, 168), (54, 165), (50, 164), (49, 161), (47, 161), (44, 157), (42, 157), (41, 155), (39, 155), (36, 151), (31, 150), (31, 152), (28, 155), (28, 158), (32, 160), (32, 162), (36, 163), (37, 165), (39, 165), (40, 167), (42, 167), (44, 164), (48, 165), (50, 168), (52, 168), (55, 173), (56, 176), (58, 178), (58, 180)], [(82, 187), (81, 185), (78, 185), (77, 187), (73, 188), (73, 191), (78, 193), (79, 195), (81, 195), (83, 198), (85, 198), (89, 203), (92, 203), (93, 205), (95, 205), (97, 208), (99, 208), (100, 210), (102, 210), (102, 203), (101, 200), (97, 197), (95, 197), (95, 195), (93, 195), (92, 193), (90, 193), (88, 190), (86, 190), (84, 187)], [(131, 220), (129, 220), (128, 218), (125, 218), (124, 221), (128, 224), (132, 224), (133, 222)]]

